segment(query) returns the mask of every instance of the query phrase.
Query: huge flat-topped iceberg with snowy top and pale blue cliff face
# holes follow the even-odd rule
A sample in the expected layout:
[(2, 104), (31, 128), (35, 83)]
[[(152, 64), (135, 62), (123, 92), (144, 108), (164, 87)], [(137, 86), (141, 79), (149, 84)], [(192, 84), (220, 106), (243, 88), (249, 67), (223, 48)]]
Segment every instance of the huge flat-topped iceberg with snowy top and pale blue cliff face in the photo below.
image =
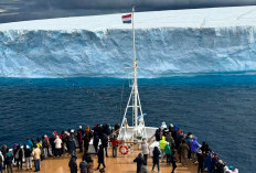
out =
[[(232, 19), (215, 17), (225, 10)], [(139, 77), (256, 69), (256, 7), (136, 17)], [(2, 77), (122, 77), (131, 64), (132, 34), (120, 14), (0, 25)]]

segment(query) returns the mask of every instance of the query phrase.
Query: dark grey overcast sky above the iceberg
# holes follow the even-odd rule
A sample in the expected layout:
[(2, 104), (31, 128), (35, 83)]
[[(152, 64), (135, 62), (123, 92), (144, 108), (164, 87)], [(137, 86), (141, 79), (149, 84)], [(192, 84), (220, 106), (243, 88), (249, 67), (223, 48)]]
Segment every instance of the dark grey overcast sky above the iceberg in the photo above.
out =
[(0, 0), (0, 23), (92, 14), (256, 6), (256, 0)]

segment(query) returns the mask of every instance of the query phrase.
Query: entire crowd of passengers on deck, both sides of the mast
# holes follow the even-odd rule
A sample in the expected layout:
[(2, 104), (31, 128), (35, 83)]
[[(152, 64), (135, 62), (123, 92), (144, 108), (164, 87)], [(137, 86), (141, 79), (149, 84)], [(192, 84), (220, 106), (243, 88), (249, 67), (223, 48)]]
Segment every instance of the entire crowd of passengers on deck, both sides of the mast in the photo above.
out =
[[(36, 140), (26, 138), (21, 144), (14, 143), (12, 148), (8, 148), (6, 144), (0, 150), (0, 172), (7, 170), (7, 173), (13, 172), (15, 165), (18, 170), (23, 169), (23, 162), (25, 163), (25, 170), (32, 170), (39, 172), (41, 169), (41, 161), (47, 158), (62, 158), (64, 153), (71, 155), (68, 166), (71, 173), (93, 173), (94, 161), (88, 153), (89, 142), (93, 140), (95, 154), (97, 155), (99, 172), (105, 172), (106, 164), (105, 158), (108, 158), (108, 144), (111, 144), (113, 156), (117, 156), (118, 144), (117, 139), (118, 123), (110, 128), (108, 125), (95, 125), (90, 129), (87, 126), (85, 129), (79, 126), (77, 130), (70, 129), (57, 133), (54, 131), (49, 138), (46, 134), (38, 138)], [(172, 165), (172, 173), (177, 169), (177, 162), (180, 162), (182, 166), (188, 166), (189, 160), (193, 164), (198, 164), (198, 173), (207, 171), (207, 173), (234, 173), (238, 172), (233, 166), (227, 166), (220, 158), (217, 153), (214, 153), (206, 142), (200, 144), (196, 137), (191, 132), (184, 133), (182, 129), (179, 129), (172, 123), (167, 127), (163, 122), (161, 128), (157, 129), (154, 133), (156, 141), (159, 145), (156, 145), (152, 150), (152, 171), (157, 166), (160, 172), (160, 161)], [(77, 153), (83, 153), (82, 162), (77, 164)], [(150, 155), (149, 141), (142, 139), (141, 153), (134, 160), (137, 163), (137, 173), (147, 173), (148, 158)], [(32, 164), (32, 161), (34, 164)], [(100, 167), (103, 165), (103, 167)]]

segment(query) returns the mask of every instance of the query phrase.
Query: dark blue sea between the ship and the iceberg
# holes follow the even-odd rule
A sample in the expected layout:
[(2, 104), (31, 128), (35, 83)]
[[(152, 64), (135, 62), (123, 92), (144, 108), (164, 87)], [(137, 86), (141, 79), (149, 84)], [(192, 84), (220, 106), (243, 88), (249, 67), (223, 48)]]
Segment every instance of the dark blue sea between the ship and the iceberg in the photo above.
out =
[[(256, 75), (139, 79), (146, 125), (175, 123), (206, 141), (241, 173), (256, 170)], [(0, 144), (121, 121), (130, 89), (122, 78), (0, 78)]]

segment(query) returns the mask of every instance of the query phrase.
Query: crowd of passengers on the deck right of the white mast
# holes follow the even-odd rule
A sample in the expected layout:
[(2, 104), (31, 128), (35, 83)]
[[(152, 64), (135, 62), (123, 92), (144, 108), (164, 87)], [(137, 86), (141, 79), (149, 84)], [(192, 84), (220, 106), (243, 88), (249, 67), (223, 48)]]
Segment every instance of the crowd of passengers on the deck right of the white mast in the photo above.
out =
[[(159, 155), (161, 155), (161, 162), (167, 164), (172, 164), (171, 173), (174, 173), (177, 169), (177, 161), (181, 163), (182, 166), (188, 166), (189, 160), (193, 164), (198, 164), (198, 173), (238, 173), (237, 169), (232, 165), (227, 166), (220, 158), (217, 153), (214, 153), (206, 142), (202, 142), (202, 145), (198, 142), (198, 138), (191, 132), (186, 134), (184, 131), (172, 123), (167, 127), (166, 122), (162, 123), (161, 128), (157, 129), (156, 141), (159, 142), (159, 147), (154, 147), (152, 151), (152, 171), (157, 165), (160, 172)], [(134, 162), (137, 162), (137, 173), (147, 172), (147, 159), (149, 154), (149, 145), (143, 140), (142, 154), (140, 153)], [(178, 152), (179, 159), (175, 158)]]

